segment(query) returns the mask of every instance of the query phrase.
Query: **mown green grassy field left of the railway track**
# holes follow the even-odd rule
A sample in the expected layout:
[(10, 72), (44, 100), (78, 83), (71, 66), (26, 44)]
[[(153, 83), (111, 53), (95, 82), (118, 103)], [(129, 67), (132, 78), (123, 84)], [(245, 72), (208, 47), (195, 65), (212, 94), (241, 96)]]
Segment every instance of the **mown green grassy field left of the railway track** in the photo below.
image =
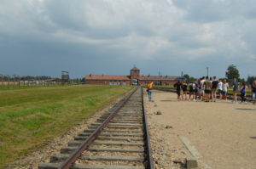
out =
[(129, 90), (87, 85), (0, 89), (0, 168)]

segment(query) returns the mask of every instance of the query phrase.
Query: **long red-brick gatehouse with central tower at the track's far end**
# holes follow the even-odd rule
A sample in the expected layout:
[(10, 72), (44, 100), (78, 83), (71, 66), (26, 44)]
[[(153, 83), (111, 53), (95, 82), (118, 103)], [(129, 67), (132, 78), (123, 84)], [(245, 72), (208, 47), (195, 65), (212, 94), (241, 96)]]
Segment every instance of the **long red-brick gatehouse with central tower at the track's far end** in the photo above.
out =
[(183, 80), (181, 76), (141, 76), (140, 70), (134, 66), (130, 70), (130, 76), (113, 75), (86, 75), (86, 84), (98, 85), (145, 85), (154, 82), (154, 85), (171, 86), (175, 82)]

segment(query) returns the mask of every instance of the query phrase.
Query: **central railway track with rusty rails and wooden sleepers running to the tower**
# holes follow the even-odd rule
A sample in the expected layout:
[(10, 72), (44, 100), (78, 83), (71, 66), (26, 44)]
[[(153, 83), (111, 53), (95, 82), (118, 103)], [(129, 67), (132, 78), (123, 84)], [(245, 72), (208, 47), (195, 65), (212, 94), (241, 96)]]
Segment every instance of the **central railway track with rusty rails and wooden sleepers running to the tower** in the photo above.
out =
[(143, 89), (137, 87), (38, 169), (153, 169)]

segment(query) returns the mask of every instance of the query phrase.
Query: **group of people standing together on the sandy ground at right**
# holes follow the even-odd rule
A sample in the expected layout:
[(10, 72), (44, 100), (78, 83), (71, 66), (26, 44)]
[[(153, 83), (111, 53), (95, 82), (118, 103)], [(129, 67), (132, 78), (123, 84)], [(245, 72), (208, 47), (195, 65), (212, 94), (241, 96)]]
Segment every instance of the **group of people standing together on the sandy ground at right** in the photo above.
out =
[[(179, 100), (185, 100), (187, 99), (187, 93), (189, 89), (189, 100), (201, 100), (205, 102), (216, 102), (217, 99), (217, 92), (218, 92), (218, 98), (219, 99), (225, 99), (227, 100), (227, 94), (229, 93), (229, 83), (224, 80), (217, 80), (216, 76), (208, 77), (203, 76), (201, 79), (187, 84), (187, 82), (177, 82), (175, 85), (177, 90), (177, 99)], [(236, 81), (236, 78), (232, 82), (233, 88), (233, 96), (234, 100), (233, 103), (237, 103), (237, 93), (239, 92), (239, 84)], [(246, 101), (247, 96), (247, 85), (245, 82), (241, 83), (240, 87), (240, 93), (241, 93), (241, 102)], [(253, 99), (256, 98), (256, 81), (252, 84), (252, 93), (253, 93)]]

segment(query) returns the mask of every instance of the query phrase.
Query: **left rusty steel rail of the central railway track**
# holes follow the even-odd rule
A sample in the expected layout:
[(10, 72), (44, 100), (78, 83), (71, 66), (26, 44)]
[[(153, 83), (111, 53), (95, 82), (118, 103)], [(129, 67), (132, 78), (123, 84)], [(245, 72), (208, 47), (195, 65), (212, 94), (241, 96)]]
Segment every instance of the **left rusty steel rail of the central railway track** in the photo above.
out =
[[(138, 87), (137, 87), (138, 88)], [(71, 156), (67, 158), (66, 161), (64, 161), (61, 166), (58, 167), (58, 169), (69, 169), (71, 166), (73, 166), (74, 162), (77, 161), (80, 155), (82, 155), (83, 151), (88, 148), (88, 146), (96, 139), (96, 137), (102, 132), (102, 129), (106, 127), (113, 119), (113, 116), (118, 113), (118, 111), (124, 106), (124, 104), (128, 101), (128, 99), (131, 98), (131, 95), (137, 91), (137, 88), (134, 89), (128, 97), (125, 99), (125, 101), (119, 105), (117, 110), (114, 110), (113, 113), (111, 113), (108, 118), (102, 122), (102, 124), (96, 128), (94, 132), (90, 134), (88, 138), (84, 140), (84, 143), (79, 146), (78, 149), (76, 149)]]

